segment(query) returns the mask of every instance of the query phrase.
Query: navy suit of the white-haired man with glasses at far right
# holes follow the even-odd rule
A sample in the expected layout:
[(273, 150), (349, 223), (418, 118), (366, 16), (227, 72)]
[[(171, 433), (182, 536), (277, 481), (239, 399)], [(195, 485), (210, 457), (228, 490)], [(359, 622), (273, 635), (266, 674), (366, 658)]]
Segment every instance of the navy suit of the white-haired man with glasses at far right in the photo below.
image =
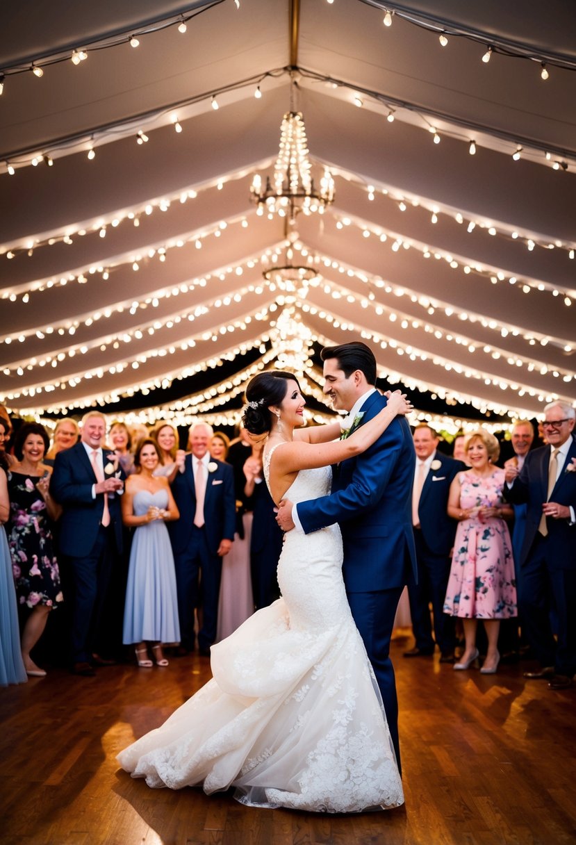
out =
[[(504, 485), (504, 498), (526, 503), (524, 542), (517, 562), (519, 612), (523, 630), (542, 666), (573, 677), (576, 673), (576, 526), (568, 520), (548, 518), (548, 534), (538, 531), (542, 504), (547, 499), (551, 447), (542, 446), (526, 455), (522, 472), (511, 488)], [(568, 457), (550, 495), (550, 501), (576, 508), (576, 472), (568, 472), (576, 457), (572, 438)], [(557, 641), (552, 635), (550, 610), (557, 613)]]

